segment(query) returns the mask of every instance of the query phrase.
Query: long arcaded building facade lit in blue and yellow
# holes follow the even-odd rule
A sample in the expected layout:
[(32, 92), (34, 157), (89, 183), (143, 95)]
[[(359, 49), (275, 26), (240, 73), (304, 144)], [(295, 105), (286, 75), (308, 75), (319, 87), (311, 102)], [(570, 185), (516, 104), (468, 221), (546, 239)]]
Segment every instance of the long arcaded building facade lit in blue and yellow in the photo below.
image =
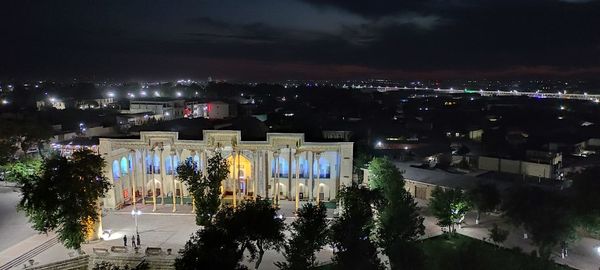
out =
[[(305, 142), (304, 134), (267, 133), (265, 141), (242, 141), (240, 131), (205, 130), (203, 140), (180, 140), (177, 132), (140, 132), (140, 138), (101, 138), (105, 176), (113, 184), (104, 208), (134, 203), (191, 204), (177, 166), (187, 159), (205, 173), (217, 151), (230, 175), (222, 199), (335, 200), (352, 181), (353, 143)], [(312, 165), (312, 166), (311, 166)]]

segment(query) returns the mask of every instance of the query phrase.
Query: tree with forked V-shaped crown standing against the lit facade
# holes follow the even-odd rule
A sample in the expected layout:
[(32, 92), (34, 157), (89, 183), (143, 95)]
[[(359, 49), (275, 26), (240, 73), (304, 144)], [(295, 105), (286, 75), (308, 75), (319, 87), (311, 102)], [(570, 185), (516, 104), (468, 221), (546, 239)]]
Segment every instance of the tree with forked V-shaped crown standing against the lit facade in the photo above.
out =
[(202, 175), (198, 166), (191, 158), (186, 159), (177, 167), (177, 177), (188, 185), (194, 198), (196, 224), (206, 226), (210, 224), (212, 217), (221, 205), (220, 186), (229, 174), (229, 165), (220, 152), (215, 152), (208, 159), (205, 176)]

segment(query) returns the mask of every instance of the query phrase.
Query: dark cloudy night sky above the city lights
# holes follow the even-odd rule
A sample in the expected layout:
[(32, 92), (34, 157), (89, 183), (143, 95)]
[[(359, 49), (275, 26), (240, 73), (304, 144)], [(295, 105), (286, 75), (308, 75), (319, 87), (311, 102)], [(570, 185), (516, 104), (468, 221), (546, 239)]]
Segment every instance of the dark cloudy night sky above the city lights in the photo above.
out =
[(0, 5), (0, 78), (600, 77), (600, 0)]

